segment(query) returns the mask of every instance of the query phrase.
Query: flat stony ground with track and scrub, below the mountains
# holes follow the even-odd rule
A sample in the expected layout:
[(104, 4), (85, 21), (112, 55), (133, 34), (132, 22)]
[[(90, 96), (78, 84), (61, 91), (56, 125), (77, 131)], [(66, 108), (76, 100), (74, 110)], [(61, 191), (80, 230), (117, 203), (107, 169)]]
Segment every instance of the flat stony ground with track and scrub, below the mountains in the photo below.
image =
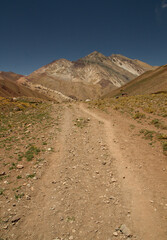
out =
[(1, 240), (166, 240), (167, 95), (1, 98)]

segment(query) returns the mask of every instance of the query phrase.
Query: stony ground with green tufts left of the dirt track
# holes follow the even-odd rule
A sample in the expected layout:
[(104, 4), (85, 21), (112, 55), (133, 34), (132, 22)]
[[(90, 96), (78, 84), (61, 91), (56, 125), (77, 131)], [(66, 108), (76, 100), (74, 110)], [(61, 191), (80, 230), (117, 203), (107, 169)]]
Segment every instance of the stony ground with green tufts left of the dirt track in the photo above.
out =
[[(0, 97), (1, 197), (12, 198), (14, 194), (17, 200), (24, 198), (22, 184), (30, 178), (26, 177), (27, 172), (33, 176), (34, 166), (43, 164), (59, 129), (61, 109), (58, 105), (55, 108), (56, 119), (51, 115), (52, 105), (48, 102)], [(48, 131), (51, 131), (49, 136)]]

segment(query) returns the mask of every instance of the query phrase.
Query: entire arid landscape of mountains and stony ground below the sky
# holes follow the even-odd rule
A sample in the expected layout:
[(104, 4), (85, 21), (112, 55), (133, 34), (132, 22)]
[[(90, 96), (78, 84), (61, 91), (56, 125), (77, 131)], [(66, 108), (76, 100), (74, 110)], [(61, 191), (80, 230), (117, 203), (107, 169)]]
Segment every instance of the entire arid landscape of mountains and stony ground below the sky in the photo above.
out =
[(96, 51), (0, 72), (0, 240), (166, 240), (166, 76)]

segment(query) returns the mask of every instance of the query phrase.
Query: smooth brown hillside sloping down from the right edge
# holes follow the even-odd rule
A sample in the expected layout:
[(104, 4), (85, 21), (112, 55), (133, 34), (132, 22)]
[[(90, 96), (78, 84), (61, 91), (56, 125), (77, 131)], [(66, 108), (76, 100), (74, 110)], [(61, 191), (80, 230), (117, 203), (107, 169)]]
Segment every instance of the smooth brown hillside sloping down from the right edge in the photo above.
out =
[(128, 95), (142, 95), (158, 92), (167, 92), (167, 65), (147, 71), (121, 88), (118, 88), (104, 97)]

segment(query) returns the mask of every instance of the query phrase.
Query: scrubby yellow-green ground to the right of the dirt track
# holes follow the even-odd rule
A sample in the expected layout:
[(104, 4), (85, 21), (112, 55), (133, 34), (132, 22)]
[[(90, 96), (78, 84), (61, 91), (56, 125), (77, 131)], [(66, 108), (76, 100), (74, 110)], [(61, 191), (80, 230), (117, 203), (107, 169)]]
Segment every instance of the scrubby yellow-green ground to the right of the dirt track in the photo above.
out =
[(146, 140), (160, 141), (166, 155), (167, 93), (101, 99), (90, 102), (89, 106), (105, 112), (113, 109), (127, 114), (141, 124), (148, 125), (149, 130), (141, 129), (140, 134)]

